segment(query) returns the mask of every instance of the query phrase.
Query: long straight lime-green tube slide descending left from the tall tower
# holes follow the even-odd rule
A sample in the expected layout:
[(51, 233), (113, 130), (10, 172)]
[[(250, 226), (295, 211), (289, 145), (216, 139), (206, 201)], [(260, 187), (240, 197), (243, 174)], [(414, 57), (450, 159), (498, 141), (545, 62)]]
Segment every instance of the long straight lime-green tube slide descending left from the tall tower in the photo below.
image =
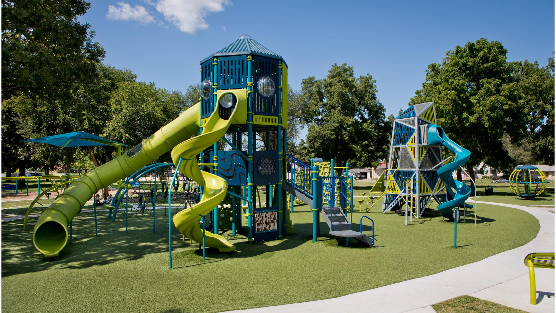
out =
[[(56, 257), (68, 241), (68, 224), (81, 212), (92, 195), (105, 186), (128, 177), (162, 154), (199, 132), (197, 103), (163, 126), (124, 155), (107, 162), (73, 182), (42, 211), (33, 230), (33, 244), (44, 257)], [(220, 139), (220, 138), (219, 138)]]

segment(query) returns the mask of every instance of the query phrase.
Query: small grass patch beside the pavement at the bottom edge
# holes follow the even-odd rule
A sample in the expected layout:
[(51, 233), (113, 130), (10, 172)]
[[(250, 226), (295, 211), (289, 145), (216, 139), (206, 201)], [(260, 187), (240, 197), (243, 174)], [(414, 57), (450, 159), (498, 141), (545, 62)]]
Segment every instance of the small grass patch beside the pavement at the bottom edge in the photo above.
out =
[(522, 313), (525, 311), (514, 309), (494, 302), (477, 299), (471, 296), (461, 296), (433, 305), (436, 313)]

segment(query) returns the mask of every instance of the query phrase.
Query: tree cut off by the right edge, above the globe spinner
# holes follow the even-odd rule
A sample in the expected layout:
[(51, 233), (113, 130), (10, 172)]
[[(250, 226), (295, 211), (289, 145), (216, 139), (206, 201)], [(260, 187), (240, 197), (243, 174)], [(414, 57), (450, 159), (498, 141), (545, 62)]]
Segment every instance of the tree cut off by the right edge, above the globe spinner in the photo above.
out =
[(527, 140), (530, 148), (536, 156), (536, 162), (552, 165), (554, 164), (554, 57), (548, 58), (548, 65), (543, 67), (539, 67), (537, 61), (531, 63), (525, 60), (518, 67), (517, 77), (520, 79), (519, 90), (523, 94), (529, 112)]

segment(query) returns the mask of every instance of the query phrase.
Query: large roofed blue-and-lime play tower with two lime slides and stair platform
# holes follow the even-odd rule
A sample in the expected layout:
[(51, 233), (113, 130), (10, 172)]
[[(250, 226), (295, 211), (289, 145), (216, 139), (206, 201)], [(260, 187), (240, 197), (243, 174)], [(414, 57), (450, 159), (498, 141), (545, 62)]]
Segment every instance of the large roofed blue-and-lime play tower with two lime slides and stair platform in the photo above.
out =
[[(169, 226), (173, 221), (183, 236), (202, 243), (203, 248), (235, 251), (235, 247), (220, 236), (219, 228), (231, 226), (232, 236), (243, 232), (242, 211), (247, 217), (249, 243), (280, 239), (285, 233), (293, 232), (286, 192), (311, 207), (313, 241), (319, 234), (320, 212), (330, 227), (330, 234), (346, 238), (346, 245), (353, 237), (373, 246), (374, 236), (368, 237), (362, 232), (364, 217), (357, 232), (351, 230), (353, 217), (347, 219), (346, 216), (347, 208), (353, 212), (353, 177), (348, 175), (348, 165), (336, 167), (344, 169), (336, 176), (334, 160), (330, 165), (322, 160), (307, 165), (286, 154), (285, 86), (287, 65), (283, 58), (250, 36), (242, 35), (205, 58), (201, 61), (200, 102), (125, 154), (69, 185), (42, 211), (33, 231), (34, 246), (47, 258), (57, 257), (66, 246), (68, 224), (87, 200), (97, 190), (125, 178), (111, 206), (107, 206), (113, 221), (118, 213), (126, 214), (127, 221), (130, 211), (141, 211), (143, 215), (145, 211), (151, 213), (151, 208), (154, 217), (157, 203), (167, 201)], [(193, 136), (197, 133), (200, 135)], [(246, 150), (241, 149), (244, 134)], [(265, 150), (256, 150), (257, 136), (266, 137)], [(218, 149), (217, 141), (221, 139), (231, 150)], [(169, 150), (175, 170), (169, 182), (170, 175), (165, 175), (160, 182), (158, 171), (172, 164), (151, 163)], [(152, 172), (155, 174), (151, 175)], [(172, 199), (180, 199), (176, 192), (182, 195), (189, 192), (183, 187), (180, 190), (179, 184), (183, 186), (186, 182), (188, 185), (191, 181), (198, 183), (200, 199), (186, 197), (188, 200), (174, 205), (177, 213), (172, 216)], [(162, 185), (166, 185), (167, 194)], [(264, 201), (260, 200), (257, 187), (265, 189)], [(130, 198), (133, 198), (131, 207)], [(230, 214), (221, 214), (223, 208)], [(207, 216), (210, 212), (213, 214)], [(222, 217), (225, 221), (221, 223)], [(207, 218), (215, 226), (212, 232), (207, 231)], [(170, 227), (168, 235), (171, 267)]]

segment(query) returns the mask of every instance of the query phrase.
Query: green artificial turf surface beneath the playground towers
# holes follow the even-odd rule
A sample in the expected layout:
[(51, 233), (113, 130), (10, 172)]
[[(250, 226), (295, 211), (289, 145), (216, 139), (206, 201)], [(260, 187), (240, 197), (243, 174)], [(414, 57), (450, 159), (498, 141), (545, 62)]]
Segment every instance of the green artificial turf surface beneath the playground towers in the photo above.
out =
[[(365, 190), (367, 189), (367, 190)], [(368, 188), (355, 188), (359, 194)], [(496, 191), (496, 189), (495, 189)], [(4, 203), (2, 203), (4, 204)], [(91, 209), (87, 206), (84, 209)], [(26, 208), (2, 213), (22, 214)], [(44, 261), (32, 244), (34, 222), (2, 223), (2, 309), (9, 312), (118, 311), (216, 312), (337, 297), (409, 280), (482, 260), (529, 242), (539, 223), (518, 209), (481, 205), (478, 226), (473, 219), (458, 225), (453, 248), (453, 224), (436, 214), (404, 226), (395, 213), (363, 213), (375, 221), (376, 247), (365, 248), (329, 236), (321, 222), (319, 241), (311, 241), (308, 206), (291, 214), (295, 233), (284, 239), (247, 243), (245, 236), (224, 236), (235, 253), (207, 250), (202, 260), (198, 244), (172, 232), (173, 269), (168, 269), (168, 218), (152, 216), (106, 221), (98, 213), (81, 212), (73, 221), (73, 243), (57, 261)], [(362, 213), (354, 213), (359, 228)], [(468, 217), (473, 217), (470, 213)], [(244, 221), (244, 224), (246, 221)], [(370, 234), (370, 221), (363, 229)], [(245, 234), (244, 228), (244, 234)], [(415, 266), (418, 265), (418, 266)]]

